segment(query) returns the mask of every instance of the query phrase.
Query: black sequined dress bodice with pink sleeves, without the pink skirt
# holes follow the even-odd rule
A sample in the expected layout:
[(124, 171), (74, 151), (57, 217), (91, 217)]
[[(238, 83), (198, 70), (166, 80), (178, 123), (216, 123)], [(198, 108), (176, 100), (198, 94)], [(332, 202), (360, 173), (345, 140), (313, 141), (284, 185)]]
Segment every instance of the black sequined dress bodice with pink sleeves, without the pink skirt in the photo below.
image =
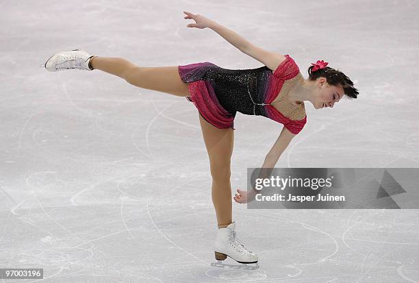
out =
[(183, 67), (181, 77), (183, 82), (209, 84), (211, 87), (205, 88), (215, 93), (216, 103), (223, 108), (216, 109), (229, 118), (234, 119), (236, 112), (262, 115), (282, 123), (294, 134), (299, 133), (307, 121), (304, 103), (295, 106), (288, 101), (290, 90), (303, 80), (299, 67), (289, 55), (285, 55), (285, 60), (273, 72), (267, 66), (231, 70), (203, 62)]

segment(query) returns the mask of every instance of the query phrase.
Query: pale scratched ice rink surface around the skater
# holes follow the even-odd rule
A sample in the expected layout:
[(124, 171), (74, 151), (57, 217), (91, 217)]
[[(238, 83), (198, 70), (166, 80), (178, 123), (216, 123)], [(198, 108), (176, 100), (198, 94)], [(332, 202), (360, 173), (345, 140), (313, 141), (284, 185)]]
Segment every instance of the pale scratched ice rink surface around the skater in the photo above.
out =
[[(307, 78), (325, 60), (360, 95), (306, 101), (307, 124), (276, 167), (419, 167), (418, 1), (2, 1), (0, 268), (21, 282), (419, 282), (418, 210), (249, 210), (238, 237), (259, 269), (213, 267), (216, 217), (198, 112), (183, 97), (101, 71), (49, 73), (84, 49), (140, 66), (263, 66), (203, 14), (290, 54)], [(281, 125), (238, 113), (232, 195)], [(230, 258), (226, 264), (237, 264)], [(18, 282), (19, 280), (2, 280)]]

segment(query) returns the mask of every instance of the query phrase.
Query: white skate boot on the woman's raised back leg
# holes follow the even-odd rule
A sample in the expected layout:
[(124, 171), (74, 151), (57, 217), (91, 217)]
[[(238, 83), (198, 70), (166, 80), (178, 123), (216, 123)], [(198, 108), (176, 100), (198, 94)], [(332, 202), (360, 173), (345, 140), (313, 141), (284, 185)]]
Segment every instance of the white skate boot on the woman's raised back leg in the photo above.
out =
[(90, 55), (86, 51), (75, 49), (73, 51), (62, 51), (51, 56), (45, 64), (41, 65), (50, 72), (62, 71), (67, 69), (80, 69), (92, 71), (89, 63), (91, 58), (95, 56)]

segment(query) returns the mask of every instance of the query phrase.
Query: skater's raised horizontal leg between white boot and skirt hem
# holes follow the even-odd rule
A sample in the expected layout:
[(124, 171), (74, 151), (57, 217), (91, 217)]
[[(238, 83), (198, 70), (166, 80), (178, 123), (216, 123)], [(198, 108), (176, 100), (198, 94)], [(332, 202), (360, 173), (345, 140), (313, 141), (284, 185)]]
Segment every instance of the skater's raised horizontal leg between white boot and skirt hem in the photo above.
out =
[(90, 62), (94, 69), (125, 79), (129, 84), (156, 90), (170, 95), (189, 95), (188, 84), (180, 78), (178, 66), (136, 66), (123, 58), (94, 57)]

